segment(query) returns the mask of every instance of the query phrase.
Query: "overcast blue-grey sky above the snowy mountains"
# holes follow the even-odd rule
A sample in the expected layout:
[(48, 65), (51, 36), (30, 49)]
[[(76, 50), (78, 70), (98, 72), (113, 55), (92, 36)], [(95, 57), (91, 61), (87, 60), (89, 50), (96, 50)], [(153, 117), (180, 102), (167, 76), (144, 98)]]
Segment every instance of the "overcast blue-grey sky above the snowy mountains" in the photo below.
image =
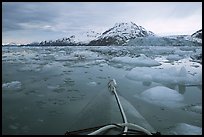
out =
[(202, 2), (3, 2), (2, 42), (56, 40), (117, 22), (134, 22), (158, 35), (202, 28)]

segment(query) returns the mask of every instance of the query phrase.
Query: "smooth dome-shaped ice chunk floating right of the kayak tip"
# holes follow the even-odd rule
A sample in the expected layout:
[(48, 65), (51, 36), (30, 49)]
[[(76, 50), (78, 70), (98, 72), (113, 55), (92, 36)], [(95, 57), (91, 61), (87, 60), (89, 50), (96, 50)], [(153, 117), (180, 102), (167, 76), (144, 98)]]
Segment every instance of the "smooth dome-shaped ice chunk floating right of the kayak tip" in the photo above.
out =
[[(135, 95), (137, 98), (138, 95)], [(172, 90), (164, 86), (156, 86), (143, 91), (139, 98), (151, 104), (165, 107), (180, 107), (183, 105), (183, 95), (178, 91)]]

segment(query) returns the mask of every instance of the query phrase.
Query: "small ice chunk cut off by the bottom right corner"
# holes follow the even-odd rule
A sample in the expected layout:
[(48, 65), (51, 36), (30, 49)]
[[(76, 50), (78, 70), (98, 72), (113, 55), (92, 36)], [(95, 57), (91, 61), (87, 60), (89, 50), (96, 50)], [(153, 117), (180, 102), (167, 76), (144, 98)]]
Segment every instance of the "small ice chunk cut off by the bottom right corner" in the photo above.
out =
[(202, 135), (202, 128), (189, 125), (186, 123), (176, 124), (170, 131), (169, 134), (174, 135)]

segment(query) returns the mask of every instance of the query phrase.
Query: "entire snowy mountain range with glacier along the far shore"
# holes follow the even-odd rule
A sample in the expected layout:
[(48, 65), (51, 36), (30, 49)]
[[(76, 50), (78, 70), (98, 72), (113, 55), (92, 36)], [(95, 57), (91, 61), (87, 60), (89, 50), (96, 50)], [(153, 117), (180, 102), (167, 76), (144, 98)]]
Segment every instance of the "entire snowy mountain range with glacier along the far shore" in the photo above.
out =
[(202, 45), (202, 30), (192, 35), (157, 36), (142, 26), (133, 22), (116, 23), (112, 28), (103, 33), (93, 30), (81, 33), (72, 33), (67, 37), (31, 43), (28, 45), (39, 46), (108, 46), (108, 45), (132, 45), (132, 46), (200, 46)]

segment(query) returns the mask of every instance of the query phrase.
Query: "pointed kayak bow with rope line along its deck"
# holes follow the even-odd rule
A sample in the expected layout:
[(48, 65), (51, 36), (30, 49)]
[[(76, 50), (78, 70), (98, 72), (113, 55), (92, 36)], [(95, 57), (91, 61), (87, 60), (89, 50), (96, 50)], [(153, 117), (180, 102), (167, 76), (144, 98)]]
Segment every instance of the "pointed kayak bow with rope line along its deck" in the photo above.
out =
[[(118, 96), (113, 79), (79, 114), (66, 135), (151, 135), (154, 128), (125, 98)], [(109, 92), (107, 92), (109, 91)], [(119, 109), (118, 109), (119, 108)]]

